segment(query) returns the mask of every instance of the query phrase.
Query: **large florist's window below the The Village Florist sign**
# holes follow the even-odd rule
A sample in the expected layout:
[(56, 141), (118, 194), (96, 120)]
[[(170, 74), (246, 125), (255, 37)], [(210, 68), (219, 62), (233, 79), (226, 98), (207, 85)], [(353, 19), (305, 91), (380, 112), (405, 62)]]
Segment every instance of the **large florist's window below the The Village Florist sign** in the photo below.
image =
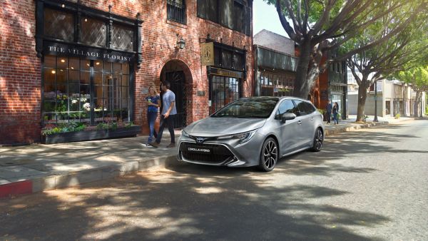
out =
[(63, 56), (44, 63), (44, 124), (129, 121), (128, 63)]

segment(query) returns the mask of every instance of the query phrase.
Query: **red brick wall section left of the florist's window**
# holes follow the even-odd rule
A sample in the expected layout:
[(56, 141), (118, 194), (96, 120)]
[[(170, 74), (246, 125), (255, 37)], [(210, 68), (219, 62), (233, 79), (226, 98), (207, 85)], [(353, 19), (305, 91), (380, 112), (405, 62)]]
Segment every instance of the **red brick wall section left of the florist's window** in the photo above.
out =
[(0, 145), (40, 139), (41, 62), (33, 0), (0, 4)]

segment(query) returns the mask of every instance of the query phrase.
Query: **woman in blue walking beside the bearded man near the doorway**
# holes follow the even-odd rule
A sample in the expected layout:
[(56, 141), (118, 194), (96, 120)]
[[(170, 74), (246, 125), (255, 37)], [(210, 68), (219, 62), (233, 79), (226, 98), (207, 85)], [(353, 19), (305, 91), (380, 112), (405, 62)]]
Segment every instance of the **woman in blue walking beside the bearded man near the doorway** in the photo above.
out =
[(150, 134), (148, 135), (148, 140), (146, 146), (153, 141), (153, 135), (156, 138), (158, 135), (155, 130), (156, 118), (158, 118), (159, 107), (161, 106), (161, 97), (159, 97), (158, 92), (156, 91), (155, 86), (148, 87), (148, 96), (147, 101), (147, 122)]

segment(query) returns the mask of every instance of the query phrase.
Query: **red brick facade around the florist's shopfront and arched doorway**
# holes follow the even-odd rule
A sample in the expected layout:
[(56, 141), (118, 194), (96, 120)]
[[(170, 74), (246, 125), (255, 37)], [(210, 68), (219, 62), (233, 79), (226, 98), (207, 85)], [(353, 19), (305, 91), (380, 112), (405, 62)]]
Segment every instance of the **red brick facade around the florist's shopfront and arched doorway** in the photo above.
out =
[[(76, 1), (73, 1), (76, 2)], [(146, 97), (143, 90), (152, 83), (159, 86), (161, 70), (171, 60), (187, 66), (188, 121), (208, 116), (208, 78), (205, 66), (200, 66), (200, 42), (207, 34), (215, 41), (248, 50), (247, 78), (243, 96), (253, 93), (252, 39), (196, 16), (196, 0), (186, 1), (187, 24), (167, 21), (165, 0), (146, 1), (81, 1), (82, 4), (113, 14), (143, 19), (143, 63), (136, 70), (136, 123), (146, 129)], [(136, 3), (136, 4), (131, 4)], [(35, 49), (35, 1), (5, 0), (0, 16), (0, 144), (38, 142), (41, 119), (41, 62)], [(177, 34), (183, 36), (185, 48), (177, 50)], [(205, 91), (205, 96), (197, 96)]]

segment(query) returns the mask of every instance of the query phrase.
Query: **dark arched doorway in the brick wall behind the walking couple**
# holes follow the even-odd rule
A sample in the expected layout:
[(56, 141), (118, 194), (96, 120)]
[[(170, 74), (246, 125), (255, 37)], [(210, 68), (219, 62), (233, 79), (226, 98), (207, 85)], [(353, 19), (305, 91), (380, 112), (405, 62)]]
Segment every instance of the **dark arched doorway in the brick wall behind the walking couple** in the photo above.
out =
[(187, 103), (188, 100), (191, 99), (191, 93), (188, 93), (188, 88), (186, 88), (186, 86), (191, 83), (190, 70), (183, 61), (171, 60), (163, 66), (160, 79), (161, 81), (170, 82), (170, 90), (175, 93), (177, 115), (174, 119), (174, 128), (184, 128), (187, 125), (188, 118), (187, 113), (189, 106)]

